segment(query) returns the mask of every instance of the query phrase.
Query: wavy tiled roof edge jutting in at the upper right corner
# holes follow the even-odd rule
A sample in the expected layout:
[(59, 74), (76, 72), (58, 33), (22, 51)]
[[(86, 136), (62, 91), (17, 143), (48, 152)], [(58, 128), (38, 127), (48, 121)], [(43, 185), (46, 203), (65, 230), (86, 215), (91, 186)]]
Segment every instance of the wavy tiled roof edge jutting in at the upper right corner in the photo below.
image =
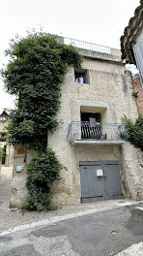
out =
[[(134, 31), (137, 33), (141, 30), (142, 26), (140, 24), (143, 24), (143, 0), (140, 0), (140, 5), (135, 9), (134, 16), (132, 16), (129, 19), (129, 25), (125, 28), (124, 35), (122, 35), (120, 41), (121, 41), (121, 51), (122, 51), (122, 59), (127, 58), (127, 50), (125, 46), (129, 49), (129, 44), (131, 40), (133, 39)], [(136, 34), (135, 32), (135, 34)], [(132, 59), (131, 56), (129, 56), (129, 60), (131, 63)], [(127, 61), (128, 62), (128, 61)], [(133, 63), (133, 61), (132, 61)]]

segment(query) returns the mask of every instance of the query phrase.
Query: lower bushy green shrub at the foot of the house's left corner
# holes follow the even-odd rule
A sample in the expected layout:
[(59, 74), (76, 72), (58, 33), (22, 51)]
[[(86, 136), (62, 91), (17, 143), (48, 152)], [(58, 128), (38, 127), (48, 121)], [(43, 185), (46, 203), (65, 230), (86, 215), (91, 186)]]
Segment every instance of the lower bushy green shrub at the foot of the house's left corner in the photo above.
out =
[(50, 184), (54, 180), (60, 179), (60, 171), (63, 168), (51, 148), (48, 149), (48, 152), (41, 153), (38, 157), (33, 158), (27, 166), (26, 186), (29, 195), (23, 208), (29, 210), (52, 209)]

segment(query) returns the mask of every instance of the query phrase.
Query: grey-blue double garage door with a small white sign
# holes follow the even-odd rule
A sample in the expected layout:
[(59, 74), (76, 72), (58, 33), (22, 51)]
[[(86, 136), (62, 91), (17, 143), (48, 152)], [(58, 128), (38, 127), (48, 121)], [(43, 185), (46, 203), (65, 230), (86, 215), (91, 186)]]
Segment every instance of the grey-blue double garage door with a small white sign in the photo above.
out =
[(82, 202), (122, 197), (117, 161), (80, 162)]

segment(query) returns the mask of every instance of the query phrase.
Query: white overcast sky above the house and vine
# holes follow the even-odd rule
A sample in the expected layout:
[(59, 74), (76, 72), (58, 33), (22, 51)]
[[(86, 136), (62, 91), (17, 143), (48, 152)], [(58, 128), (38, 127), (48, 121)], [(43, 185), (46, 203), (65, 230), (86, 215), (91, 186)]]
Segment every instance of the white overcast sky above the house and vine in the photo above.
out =
[[(120, 48), (120, 37), (140, 0), (3, 0), (0, 9), (0, 69), (16, 34), (43, 28), (43, 32)], [(0, 80), (0, 113), (14, 108), (14, 96)]]

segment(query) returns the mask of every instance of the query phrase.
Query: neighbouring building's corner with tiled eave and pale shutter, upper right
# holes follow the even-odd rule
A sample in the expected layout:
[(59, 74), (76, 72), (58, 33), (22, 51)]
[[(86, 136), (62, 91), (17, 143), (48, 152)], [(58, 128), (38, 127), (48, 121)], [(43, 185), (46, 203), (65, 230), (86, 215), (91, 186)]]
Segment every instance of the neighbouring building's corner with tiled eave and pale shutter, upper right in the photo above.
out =
[(140, 0), (140, 6), (129, 19), (121, 37), (121, 51), (122, 59), (137, 66), (143, 86), (143, 0)]

